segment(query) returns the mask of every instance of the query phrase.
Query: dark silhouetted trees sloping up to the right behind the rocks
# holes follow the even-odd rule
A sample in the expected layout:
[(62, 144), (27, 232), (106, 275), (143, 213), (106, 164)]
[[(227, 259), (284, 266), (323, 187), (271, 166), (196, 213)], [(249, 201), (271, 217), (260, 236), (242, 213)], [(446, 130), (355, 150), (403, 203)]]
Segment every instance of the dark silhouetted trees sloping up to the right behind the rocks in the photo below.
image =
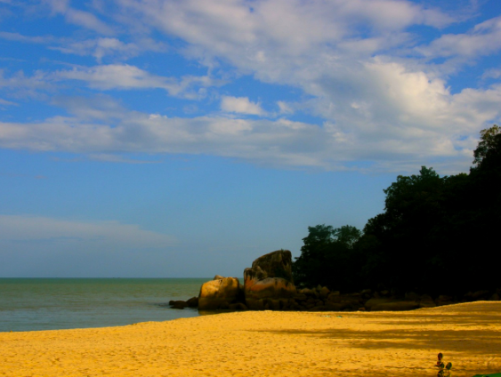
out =
[(464, 294), (501, 286), (501, 128), (481, 131), (468, 173), (423, 166), (384, 189), (384, 213), (361, 231), (309, 227), (296, 285)]

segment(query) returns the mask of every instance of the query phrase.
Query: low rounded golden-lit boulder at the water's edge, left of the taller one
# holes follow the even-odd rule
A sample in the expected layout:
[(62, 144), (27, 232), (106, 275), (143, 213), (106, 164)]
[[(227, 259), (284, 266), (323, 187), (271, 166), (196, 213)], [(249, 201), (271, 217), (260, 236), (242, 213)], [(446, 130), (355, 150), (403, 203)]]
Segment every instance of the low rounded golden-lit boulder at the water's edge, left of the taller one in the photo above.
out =
[[(216, 276), (220, 277), (220, 276)], [(222, 277), (204, 283), (198, 294), (198, 310), (227, 309), (243, 299), (237, 277)]]

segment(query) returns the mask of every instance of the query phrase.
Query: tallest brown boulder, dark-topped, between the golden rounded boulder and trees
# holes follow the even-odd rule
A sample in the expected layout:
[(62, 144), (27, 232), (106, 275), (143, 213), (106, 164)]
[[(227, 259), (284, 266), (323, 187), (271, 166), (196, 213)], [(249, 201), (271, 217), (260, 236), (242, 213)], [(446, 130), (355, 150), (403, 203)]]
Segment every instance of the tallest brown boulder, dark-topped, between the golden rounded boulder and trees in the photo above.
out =
[(265, 254), (244, 270), (244, 295), (249, 309), (288, 309), (296, 294), (292, 255), (288, 250)]

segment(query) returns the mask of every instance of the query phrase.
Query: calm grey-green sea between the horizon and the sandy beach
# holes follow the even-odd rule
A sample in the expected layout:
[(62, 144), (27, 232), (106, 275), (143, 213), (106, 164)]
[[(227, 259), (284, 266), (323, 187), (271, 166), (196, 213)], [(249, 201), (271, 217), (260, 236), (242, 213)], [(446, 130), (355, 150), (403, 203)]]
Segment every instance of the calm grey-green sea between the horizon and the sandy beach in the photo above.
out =
[(131, 325), (197, 317), (168, 301), (211, 278), (0, 278), (0, 332)]

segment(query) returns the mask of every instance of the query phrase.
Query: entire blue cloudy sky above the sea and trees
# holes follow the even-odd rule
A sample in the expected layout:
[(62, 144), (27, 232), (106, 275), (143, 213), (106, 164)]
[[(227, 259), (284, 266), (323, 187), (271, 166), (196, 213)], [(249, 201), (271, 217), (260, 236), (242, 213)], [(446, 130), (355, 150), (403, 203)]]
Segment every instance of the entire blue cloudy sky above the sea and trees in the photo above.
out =
[(498, 0), (0, 0), (0, 277), (242, 277), (468, 172)]

